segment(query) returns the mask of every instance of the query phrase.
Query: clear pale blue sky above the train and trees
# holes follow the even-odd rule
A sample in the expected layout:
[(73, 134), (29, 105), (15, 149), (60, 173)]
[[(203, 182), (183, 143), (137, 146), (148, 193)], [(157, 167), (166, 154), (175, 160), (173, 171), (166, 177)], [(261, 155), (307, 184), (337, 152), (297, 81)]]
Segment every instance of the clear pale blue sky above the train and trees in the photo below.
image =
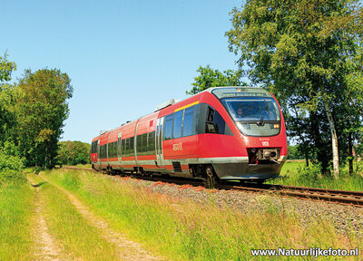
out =
[(0, 53), (27, 68), (58, 68), (74, 86), (62, 140), (185, 99), (200, 65), (236, 69), (225, 32), (241, 1), (3, 1)]

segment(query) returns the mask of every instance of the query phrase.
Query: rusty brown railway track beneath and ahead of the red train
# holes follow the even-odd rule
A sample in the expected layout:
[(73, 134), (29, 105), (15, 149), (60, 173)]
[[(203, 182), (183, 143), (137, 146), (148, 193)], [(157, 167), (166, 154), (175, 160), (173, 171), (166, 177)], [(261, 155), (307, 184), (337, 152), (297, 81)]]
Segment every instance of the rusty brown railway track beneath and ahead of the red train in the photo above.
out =
[[(64, 167), (66, 169), (83, 169), (76, 167)], [(93, 169), (83, 169), (91, 170)], [(116, 175), (118, 176), (118, 175)], [(161, 181), (174, 183), (178, 185), (191, 185), (191, 186), (202, 186), (203, 181), (195, 179), (175, 179), (175, 178), (161, 178), (161, 177), (142, 177), (137, 176), (138, 179), (146, 179), (151, 181)], [(252, 193), (269, 193), (285, 197), (294, 197), (310, 200), (326, 201), (330, 203), (338, 203), (344, 205), (350, 205), (355, 207), (363, 208), (363, 192), (359, 191), (348, 191), (338, 189), (318, 189), (308, 187), (294, 187), (284, 185), (271, 185), (271, 184), (255, 184), (255, 183), (240, 183), (234, 181), (228, 181), (223, 184), (217, 185), (216, 189), (226, 190), (238, 190), (247, 191)]]

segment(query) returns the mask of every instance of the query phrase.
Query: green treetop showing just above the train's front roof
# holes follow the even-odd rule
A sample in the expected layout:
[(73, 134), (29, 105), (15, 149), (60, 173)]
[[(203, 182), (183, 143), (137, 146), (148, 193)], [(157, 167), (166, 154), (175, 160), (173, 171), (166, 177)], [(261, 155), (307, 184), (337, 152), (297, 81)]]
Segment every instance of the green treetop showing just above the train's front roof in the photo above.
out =
[(194, 78), (195, 82), (191, 83), (193, 88), (187, 94), (193, 95), (210, 87), (247, 85), (245, 82), (240, 82), (240, 73), (232, 70), (221, 73), (207, 65), (205, 68), (200, 66), (197, 73), (200, 73), (200, 75)]

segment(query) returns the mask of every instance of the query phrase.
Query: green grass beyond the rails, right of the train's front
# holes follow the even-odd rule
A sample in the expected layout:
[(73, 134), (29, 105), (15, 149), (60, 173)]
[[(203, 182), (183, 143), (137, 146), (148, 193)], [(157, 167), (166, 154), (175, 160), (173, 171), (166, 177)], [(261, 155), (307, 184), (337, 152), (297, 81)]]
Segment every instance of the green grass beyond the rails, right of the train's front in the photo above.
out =
[[(361, 165), (363, 165), (363, 162), (355, 162), (355, 164), (359, 164), (358, 169), (362, 169), (363, 166)], [(309, 164), (309, 168), (306, 167), (305, 160), (288, 160), (281, 169), (280, 178), (270, 180), (268, 183), (363, 191), (363, 176), (361, 172), (358, 171), (349, 175), (348, 166), (344, 166), (340, 170), (340, 178), (333, 179), (331, 175), (322, 175), (318, 166)]]

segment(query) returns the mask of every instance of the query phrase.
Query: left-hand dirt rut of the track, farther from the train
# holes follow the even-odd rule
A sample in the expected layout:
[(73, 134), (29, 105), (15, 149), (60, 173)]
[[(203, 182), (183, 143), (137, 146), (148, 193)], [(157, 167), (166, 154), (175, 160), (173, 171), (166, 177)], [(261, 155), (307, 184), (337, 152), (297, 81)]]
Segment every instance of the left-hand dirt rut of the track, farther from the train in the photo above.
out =
[(34, 256), (36, 260), (71, 260), (66, 257), (62, 249), (57, 246), (54, 237), (49, 233), (49, 229), (44, 219), (44, 201), (42, 200), (39, 187), (41, 183), (35, 185), (29, 179), (31, 185), (36, 189), (35, 195), (35, 217), (34, 217)]

